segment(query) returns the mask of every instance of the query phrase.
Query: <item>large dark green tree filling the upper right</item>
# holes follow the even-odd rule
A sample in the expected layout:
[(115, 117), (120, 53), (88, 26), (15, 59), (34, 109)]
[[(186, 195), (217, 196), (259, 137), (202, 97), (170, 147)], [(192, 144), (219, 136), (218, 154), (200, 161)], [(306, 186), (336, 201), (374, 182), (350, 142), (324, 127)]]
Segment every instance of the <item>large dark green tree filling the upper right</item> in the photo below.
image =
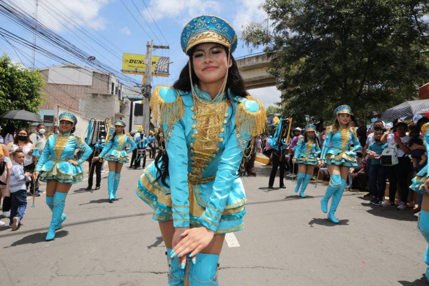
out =
[(331, 119), (348, 104), (357, 117), (413, 100), (428, 80), (428, 0), (265, 0), (266, 23), (242, 31), (263, 46), (282, 90), (282, 111)]

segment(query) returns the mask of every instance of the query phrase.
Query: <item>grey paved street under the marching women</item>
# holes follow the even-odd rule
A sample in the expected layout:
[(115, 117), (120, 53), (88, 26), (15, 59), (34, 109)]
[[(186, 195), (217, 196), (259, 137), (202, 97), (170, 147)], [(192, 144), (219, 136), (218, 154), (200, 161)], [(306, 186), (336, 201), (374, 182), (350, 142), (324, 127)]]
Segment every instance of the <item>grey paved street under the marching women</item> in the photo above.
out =
[[(324, 184), (312, 182), (301, 199), (290, 179), (287, 189), (267, 189), (269, 169), (257, 168), (258, 177), (244, 180), (246, 227), (224, 243), (220, 285), (427, 285), (427, 244), (411, 211), (345, 192), (341, 223), (333, 225), (320, 210)], [(29, 200), (24, 226), (0, 227), (0, 285), (167, 285), (158, 225), (134, 192), (141, 173), (122, 170), (114, 204), (107, 203), (107, 173), (100, 190), (85, 191), (86, 180), (73, 185), (64, 228), (50, 242), (44, 194), (34, 209)]]

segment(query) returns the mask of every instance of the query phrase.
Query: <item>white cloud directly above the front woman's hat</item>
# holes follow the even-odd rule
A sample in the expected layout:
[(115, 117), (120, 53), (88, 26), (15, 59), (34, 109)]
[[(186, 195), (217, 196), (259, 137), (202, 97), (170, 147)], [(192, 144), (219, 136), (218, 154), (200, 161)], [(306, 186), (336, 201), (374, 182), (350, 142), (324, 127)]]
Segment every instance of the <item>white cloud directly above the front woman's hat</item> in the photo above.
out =
[[(221, 3), (216, 0), (150, 0), (148, 5), (150, 13), (155, 20), (162, 18), (175, 18), (180, 24), (185, 24), (189, 19), (203, 15), (216, 14), (221, 10)], [(143, 10), (144, 16), (150, 17), (147, 10)]]

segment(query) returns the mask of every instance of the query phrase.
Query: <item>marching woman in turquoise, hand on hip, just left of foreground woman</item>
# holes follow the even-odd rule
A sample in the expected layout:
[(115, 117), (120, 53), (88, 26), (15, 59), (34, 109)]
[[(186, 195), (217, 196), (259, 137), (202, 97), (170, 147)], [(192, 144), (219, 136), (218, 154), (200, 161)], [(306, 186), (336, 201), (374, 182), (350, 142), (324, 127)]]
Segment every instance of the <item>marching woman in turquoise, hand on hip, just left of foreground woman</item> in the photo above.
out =
[[(128, 163), (128, 153), (133, 152), (133, 150), (137, 148), (134, 139), (124, 132), (126, 126), (125, 122), (122, 120), (115, 120), (113, 124), (115, 126), (115, 132), (106, 143), (100, 155), (92, 159), (92, 161), (105, 159), (108, 162), (109, 175), (107, 177), (107, 191), (109, 203), (113, 203), (113, 200), (116, 199), (116, 191), (118, 190), (119, 180), (121, 179), (122, 165)], [(131, 148), (125, 151), (127, 143), (131, 144)]]

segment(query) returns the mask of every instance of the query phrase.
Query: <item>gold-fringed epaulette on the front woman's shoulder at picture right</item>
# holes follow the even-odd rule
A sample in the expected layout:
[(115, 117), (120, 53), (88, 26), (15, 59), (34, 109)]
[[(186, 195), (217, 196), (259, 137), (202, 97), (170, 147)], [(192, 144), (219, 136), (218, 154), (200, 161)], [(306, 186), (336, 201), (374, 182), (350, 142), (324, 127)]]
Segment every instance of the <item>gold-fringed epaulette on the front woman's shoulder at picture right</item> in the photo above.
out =
[(248, 97), (247, 100), (256, 101), (259, 105), (259, 110), (251, 112), (244, 106), (244, 101), (239, 103), (235, 124), (241, 133), (249, 134), (250, 136), (259, 136), (265, 130), (265, 120), (267, 117), (265, 108), (257, 99)]

